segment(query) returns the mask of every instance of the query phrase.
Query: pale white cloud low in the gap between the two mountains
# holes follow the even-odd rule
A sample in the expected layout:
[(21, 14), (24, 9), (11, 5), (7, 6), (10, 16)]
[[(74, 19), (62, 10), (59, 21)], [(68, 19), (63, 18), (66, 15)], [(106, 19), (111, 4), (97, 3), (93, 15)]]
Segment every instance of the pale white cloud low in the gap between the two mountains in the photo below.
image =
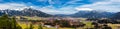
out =
[(46, 6), (40, 9), (40, 11), (43, 11), (48, 14), (73, 14), (77, 11), (74, 11), (72, 7), (63, 7), (63, 8), (54, 8), (53, 6)]

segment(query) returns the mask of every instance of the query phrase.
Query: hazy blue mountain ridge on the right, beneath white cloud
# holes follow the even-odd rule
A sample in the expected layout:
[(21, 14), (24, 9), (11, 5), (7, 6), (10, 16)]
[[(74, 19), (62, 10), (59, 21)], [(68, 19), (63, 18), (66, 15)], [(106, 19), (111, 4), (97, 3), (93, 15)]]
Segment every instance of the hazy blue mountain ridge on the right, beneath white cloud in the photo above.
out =
[(71, 15), (56, 15), (59, 17), (83, 17), (83, 18), (110, 18), (114, 13), (99, 11), (79, 11)]

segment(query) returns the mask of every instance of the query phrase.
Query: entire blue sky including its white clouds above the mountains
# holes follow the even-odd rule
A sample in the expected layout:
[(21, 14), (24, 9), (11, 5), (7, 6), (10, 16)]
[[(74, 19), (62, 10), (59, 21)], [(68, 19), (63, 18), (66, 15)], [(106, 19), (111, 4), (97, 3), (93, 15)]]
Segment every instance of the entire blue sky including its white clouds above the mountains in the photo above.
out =
[(73, 14), (101, 10), (120, 12), (120, 0), (0, 0), (0, 9), (22, 10), (32, 7), (48, 14)]

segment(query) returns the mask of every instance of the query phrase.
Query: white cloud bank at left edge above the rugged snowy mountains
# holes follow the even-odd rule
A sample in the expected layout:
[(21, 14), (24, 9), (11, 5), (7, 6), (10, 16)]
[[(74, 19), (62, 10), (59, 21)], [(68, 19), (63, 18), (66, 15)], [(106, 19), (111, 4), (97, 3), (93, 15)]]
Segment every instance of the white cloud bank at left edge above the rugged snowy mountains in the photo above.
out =
[(25, 4), (18, 4), (18, 3), (1, 3), (0, 9), (16, 9), (19, 10), (21, 8), (27, 7)]

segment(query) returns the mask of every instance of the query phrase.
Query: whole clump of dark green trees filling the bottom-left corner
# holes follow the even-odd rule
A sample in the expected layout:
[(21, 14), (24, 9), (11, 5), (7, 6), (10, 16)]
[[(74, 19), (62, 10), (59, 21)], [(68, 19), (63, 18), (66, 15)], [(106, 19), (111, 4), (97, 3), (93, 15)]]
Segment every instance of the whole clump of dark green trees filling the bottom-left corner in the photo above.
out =
[(0, 29), (21, 29), (15, 18), (10, 18), (8, 15), (0, 17)]

